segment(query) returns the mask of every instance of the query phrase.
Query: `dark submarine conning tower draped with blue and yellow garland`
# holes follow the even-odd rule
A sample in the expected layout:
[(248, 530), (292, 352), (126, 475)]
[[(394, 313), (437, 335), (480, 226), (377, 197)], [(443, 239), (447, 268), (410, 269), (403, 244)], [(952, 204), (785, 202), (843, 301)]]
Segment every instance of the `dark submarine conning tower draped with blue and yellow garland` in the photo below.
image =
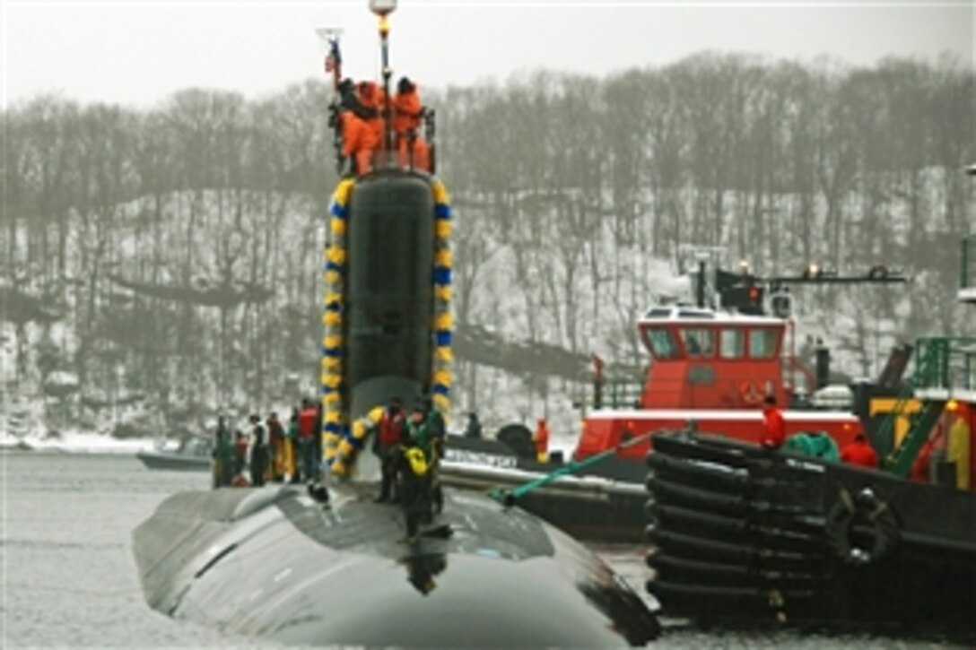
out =
[[(324, 460), (333, 474), (355, 469), (367, 478), (378, 472), (376, 460), (366, 454), (357, 463), (357, 452), (383, 407), (394, 397), (407, 406), (423, 398), (446, 416), (452, 360), (451, 208), (444, 183), (432, 175), (433, 113), (421, 107), (397, 120), (386, 49), (392, 10), (372, 4), (380, 6), (373, 9), (380, 16), (384, 90), (375, 112), (361, 113), (378, 119), (369, 128), (381, 132), (366, 148), (347, 142), (353, 137), (347, 120), (359, 119), (357, 101), (348, 95), (354, 86), (342, 79), (338, 38), (329, 37), (326, 70), (337, 91), (331, 124), (344, 178), (329, 218), (321, 361)], [(421, 120), (424, 139), (415, 128)], [(415, 164), (419, 142), (429, 147), (423, 167)]]

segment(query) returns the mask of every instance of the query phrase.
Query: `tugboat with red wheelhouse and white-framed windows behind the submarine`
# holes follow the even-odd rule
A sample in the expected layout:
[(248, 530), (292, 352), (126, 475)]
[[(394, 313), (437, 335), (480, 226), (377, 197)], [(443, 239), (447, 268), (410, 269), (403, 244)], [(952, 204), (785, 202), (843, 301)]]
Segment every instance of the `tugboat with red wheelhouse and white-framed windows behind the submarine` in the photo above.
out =
[[(904, 282), (874, 266), (863, 275), (838, 276), (807, 269), (798, 276), (759, 278), (716, 269), (717, 308), (707, 305), (706, 268), (698, 269), (696, 305), (658, 305), (637, 321), (650, 355), (643, 384), (607, 381), (594, 373), (594, 410), (583, 419), (569, 462), (539, 463), (531, 443), (452, 437), (441, 473), (449, 485), (492, 491), (507, 503), (538, 514), (579, 539), (639, 543), (644, 539), (644, 457), (661, 431), (694, 422), (699, 430), (757, 442), (767, 397), (792, 405), (783, 411), (788, 435), (818, 436), (836, 448), (864, 433), (864, 417), (802, 403), (795, 379), (807, 389), (826, 386), (829, 352), (818, 353), (816, 373), (796, 358), (791, 283)], [(774, 315), (765, 313), (765, 293)], [(874, 397), (886, 394), (863, 388)], [(527, 438), (527, 434), (523, 436)], [(511, 442), (510, 438), (508, 440)], [(519, 453), (519, 448), (528, 448)]]

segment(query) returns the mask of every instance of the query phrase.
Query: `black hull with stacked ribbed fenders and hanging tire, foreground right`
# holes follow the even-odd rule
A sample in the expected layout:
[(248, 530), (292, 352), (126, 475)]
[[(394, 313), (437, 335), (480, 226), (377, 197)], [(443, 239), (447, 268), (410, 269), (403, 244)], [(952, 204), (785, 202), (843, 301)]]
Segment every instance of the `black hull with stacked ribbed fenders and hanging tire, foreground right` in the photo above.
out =
[(656, 436), (648, 465), (663, 611), (974, 630), (971, 493), (712, 436)]

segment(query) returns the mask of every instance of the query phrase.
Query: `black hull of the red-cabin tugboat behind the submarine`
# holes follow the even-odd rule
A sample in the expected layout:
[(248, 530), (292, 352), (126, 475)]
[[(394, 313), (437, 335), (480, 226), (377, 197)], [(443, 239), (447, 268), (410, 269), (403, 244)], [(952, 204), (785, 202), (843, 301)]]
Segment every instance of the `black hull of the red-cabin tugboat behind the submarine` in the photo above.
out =
[[(441, 481), (481, 492), (508, 490), (564, 467), (519, 457), (496, 440), (451, 436), (447, 450)], [(516, 505), (579, 540), (639, 544), (644, 541), (646, 523), (646, 473), (640, 462), (610, 457), (536, 488)]]

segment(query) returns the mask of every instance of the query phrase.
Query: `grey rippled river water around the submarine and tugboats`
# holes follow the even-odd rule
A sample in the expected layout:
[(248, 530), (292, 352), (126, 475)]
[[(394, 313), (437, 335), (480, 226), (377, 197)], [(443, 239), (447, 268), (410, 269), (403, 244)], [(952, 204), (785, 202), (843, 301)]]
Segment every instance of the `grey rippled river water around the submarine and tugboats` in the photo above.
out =
[[(132, 530), (167, 496), (209, 489), (204, 472), (135, 458), (0, 452), (0, 647), (278, 647), (150, 610)], [(594, 548), (648, 602), (644, 548)], [(695, 630), (665, 621), (664, 648), (933, 648), (932, 640)]]

